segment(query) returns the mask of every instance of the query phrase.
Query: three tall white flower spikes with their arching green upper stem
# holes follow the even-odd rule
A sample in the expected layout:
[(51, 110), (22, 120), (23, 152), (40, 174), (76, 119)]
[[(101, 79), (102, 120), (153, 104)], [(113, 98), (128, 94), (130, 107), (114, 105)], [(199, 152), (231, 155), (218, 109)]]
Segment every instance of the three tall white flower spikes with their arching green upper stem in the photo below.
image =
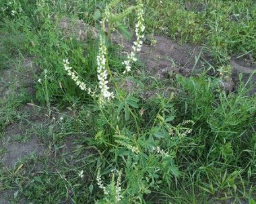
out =
[[(76, 74), (75, 71), (72, 70), (72, 67), (69, 65), (69, 60), (65, 59), (64, 62), (64, 68), (67, 71), (67, 74), (71, 76), (71, 79), (75, 81), (75, 85), (77, 85), (81, 90), (86, 91), (89, 95), (92, 95), (92, 97), (98, 97), (100, 105), (105, 103), (106, 101), (110, 101), (110, 99), (113, 99), (115, 97), (114, 92), (110, 91), (109, 84), (109, 77), (112, 78), (112, 74), (110, 71), (110, 67), (108, 65), (108, 54), (107, 54), (107, 47), (105, 43), (104, 31), (106, 22), (108, 22), (108, 25), (110, 27), (113, 25), (110, 21), (118, 21), (122, 17), (125, 17), (127, 14), (129, 14), (133, 9), (136, 9), (137, 13), (137, 23), (135, 25), (135, 35), (136, 40), (133, 42), (132, 51), (127, 54), (127, 59), (122, 62), (122, 64), (125, 65), (125, 70), (123, 73), (127, 73), (131, 71), (131, 64), (137, 60), (135, 58), (135, 54), (141, 50), (141, 46), (143, 44), (143, 32), (145, 30), (145, 25), (143, 24), (143, 4), (141, 3), (141, 0), (137, 0), (137, 6), (135, 7), (129, 7), (126, 11), (123, 12), (123, 14), (117, 14), (113, 15), (110, 13), (110, 9), (117, 5), (118, 1), (113, 1), (109, 5), (106, 6), (106, 9), (102, 15), (102, 21), (100, 21), (102, 32), (100, 32), (100, 46), (98, 50), (97, 55), (97, 77), (98, 77), (98, 88), (100, 89), (98, 95), (96, 95), (96, 91), (92, 91), (90, 88), (90, 85), (86, 85), (86, 83), (79, 80), (78, 74)], [(110, 29), (108, 32), (110, 33)], [(108, 34), (109, 38), (109, 34)]]

